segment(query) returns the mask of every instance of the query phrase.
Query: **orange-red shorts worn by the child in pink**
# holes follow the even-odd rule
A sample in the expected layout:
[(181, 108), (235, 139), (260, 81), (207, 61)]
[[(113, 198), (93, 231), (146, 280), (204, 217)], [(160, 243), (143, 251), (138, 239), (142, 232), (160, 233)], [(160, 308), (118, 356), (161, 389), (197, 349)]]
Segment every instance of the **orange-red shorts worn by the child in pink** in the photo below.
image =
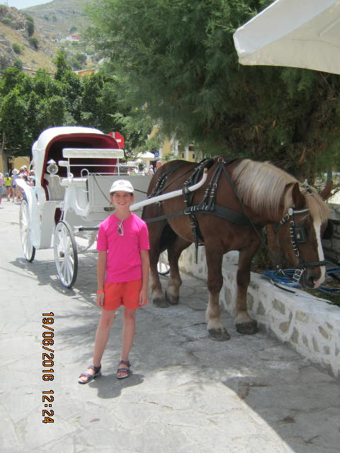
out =
[(105, 282), (103, 310), (116, 310), (119, 309), (120, 305), (130, 310), (139, 309), (142, 306), (139, 302), (141, 289), (141, 279), (131, 282)]

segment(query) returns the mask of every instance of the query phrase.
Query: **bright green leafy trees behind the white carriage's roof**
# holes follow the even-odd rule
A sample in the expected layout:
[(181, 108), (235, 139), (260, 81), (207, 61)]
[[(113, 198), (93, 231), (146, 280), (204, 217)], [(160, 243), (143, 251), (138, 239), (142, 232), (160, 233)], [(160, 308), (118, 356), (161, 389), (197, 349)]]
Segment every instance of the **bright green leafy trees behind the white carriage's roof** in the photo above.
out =
[(19, 69), (6, 69), (0, 77), (0, 143), (7, 156), (27, 156), (33, 142), (48, 127), (81, 125), (125, 136), (127, 156), (147, 139), (152, 123), (125, 99), (123, 79), (107, 71), (80, 79), (60, 52), (57, 71), (44, 69), (33, 77)]

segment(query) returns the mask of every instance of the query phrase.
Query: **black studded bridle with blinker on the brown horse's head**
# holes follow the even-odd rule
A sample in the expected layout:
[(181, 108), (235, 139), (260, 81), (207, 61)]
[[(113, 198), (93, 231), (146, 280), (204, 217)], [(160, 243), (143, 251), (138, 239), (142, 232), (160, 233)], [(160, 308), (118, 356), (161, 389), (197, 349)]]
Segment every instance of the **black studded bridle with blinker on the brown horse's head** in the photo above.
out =
[[(289, 207), (287, 214), (285, 214), (283, 219), (280, 220), (280, 222), (278, 223), (278, 226), (276, 227), (276, 232), (277, 232), (283, 225), (285, 225), (287, 222), (289, 222), (290, 245), (292, 246), (295, 256), (298, 259), (298, 264), (295, 269), (295, 273), (292, 277), (294, 283), (300, 282), (302, 274), (305, 272), (306, 268), (314, 268), (316, 266), (325, 266), (327, 263), (325, 260), (323, 260), (323, 261), (305, 261), (300, 256), (299, 244), (304, 244), (307, 242), (307, 234), (306, 234), (305, 226), (303, 226), (303, 223), (298, 226), (295, 225), (294, 216), (300, 215), (300, 214), (307, 214), (308, 212), (310, 212), (310, 210), (307, 208), (298, 210), (298, 209), (295, 209), (294, 207)], [(279, 271), (283, 273), (282, 269), (279, 269)]]

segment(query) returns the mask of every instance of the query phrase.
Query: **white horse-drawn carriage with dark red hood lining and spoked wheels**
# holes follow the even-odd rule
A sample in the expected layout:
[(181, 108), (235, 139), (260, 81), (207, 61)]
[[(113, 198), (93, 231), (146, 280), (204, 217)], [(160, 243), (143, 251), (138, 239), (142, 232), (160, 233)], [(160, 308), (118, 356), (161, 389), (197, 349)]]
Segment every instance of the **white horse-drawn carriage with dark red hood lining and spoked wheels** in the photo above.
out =
[[(36, 250), (52, 246), (65, 287), (77, 279), (78, 253), (89, 250), (99, 224), (112, 214), (108, 194), (115, 179), (131, 181), (135, 204), (130, 209), (137, 215), (144, 205), (181, 195), (177, 190), (145, 200), (151, 176), (129, 175), (128, 164), (120, 164), (124, 154), (118, 142), (90, 127), (47, 129), (33, 144), (32, 154), (35, 187), (18, 179), (25, 195), (19, 219), (23, 253), (33, 261)], [(196, 190), (205, 178), (190, 190)], [(159, 266), (164, 273), (164, 257)]]

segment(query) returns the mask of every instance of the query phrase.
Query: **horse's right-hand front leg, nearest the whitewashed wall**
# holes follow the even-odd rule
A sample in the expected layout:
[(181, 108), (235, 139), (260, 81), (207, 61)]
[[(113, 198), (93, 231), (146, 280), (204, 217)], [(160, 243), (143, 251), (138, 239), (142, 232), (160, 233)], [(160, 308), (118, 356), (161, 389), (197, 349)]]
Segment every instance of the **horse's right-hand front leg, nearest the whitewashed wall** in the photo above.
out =
[(239, 333), (252, 335), (259, 331), (257, 323), (248, 314), (246, 306), (246, 294), (250, 282), (250, 267), (251, 260), (259, 248), (257, 241), (239, 252), (239, 265), (237, 268), (237, 296), (236, 296), (236, 313), (235, 313), (235, 326)]

